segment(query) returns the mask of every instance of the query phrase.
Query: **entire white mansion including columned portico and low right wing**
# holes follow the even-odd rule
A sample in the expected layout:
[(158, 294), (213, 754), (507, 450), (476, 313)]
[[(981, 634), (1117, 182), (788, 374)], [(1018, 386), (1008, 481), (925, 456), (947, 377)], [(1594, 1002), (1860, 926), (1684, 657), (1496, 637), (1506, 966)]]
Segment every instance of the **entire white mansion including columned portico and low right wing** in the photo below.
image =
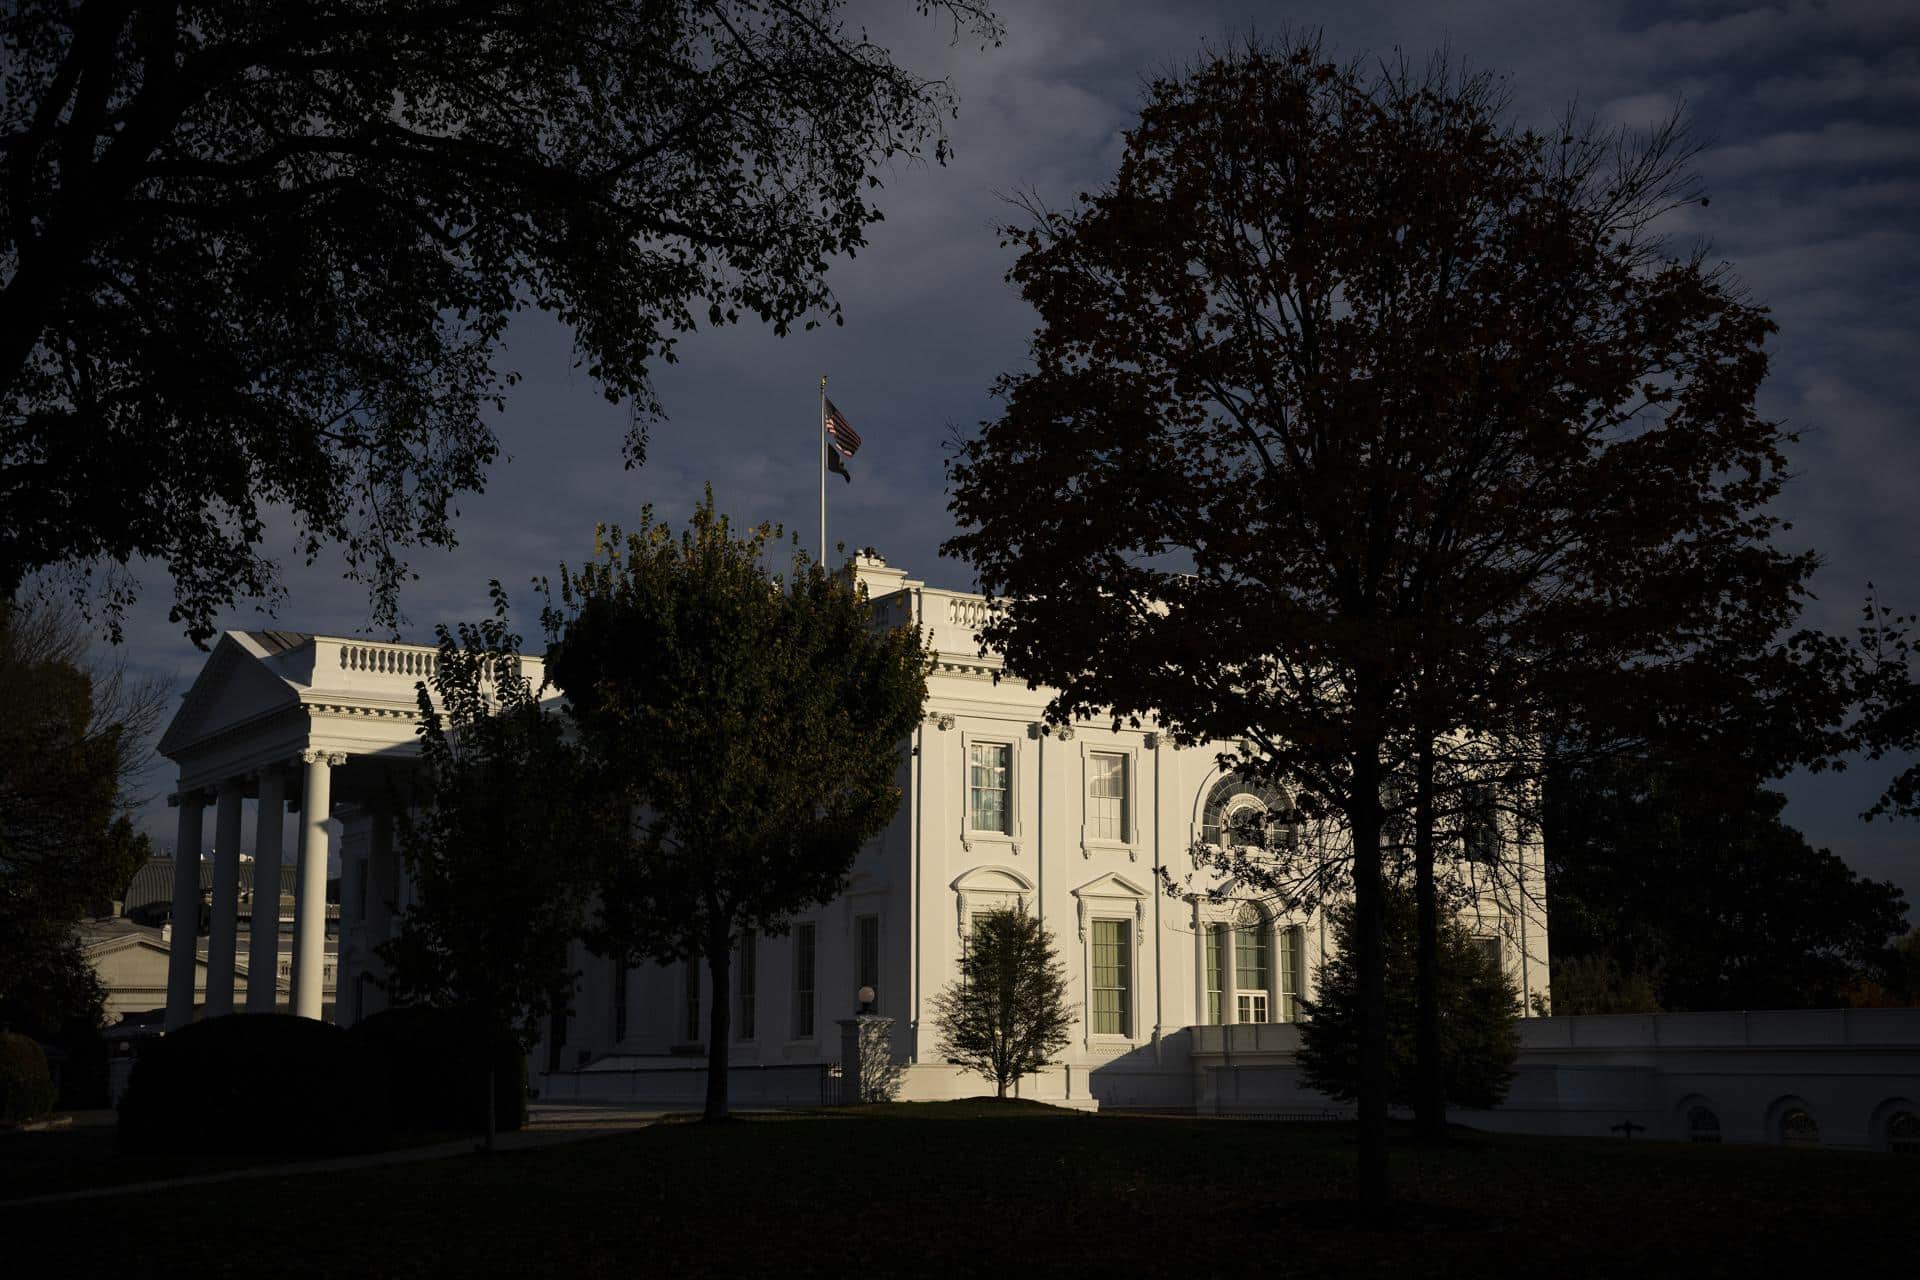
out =
[[(1046, 691), (996, 681), (998, 658), (979, 654), (981, 597), (925, 587), (870, 557), (854, 572), (877, 622), (924, 628), (937, 654), (925, 716), (904, 743), (899, 814), (860, 852), (843, 894), (801, 913), (783, 936), (739, 940), (730, 992), (710, 990), (699, 963), (622, 969), (578, 950), (572, 1015), (536, 1050), (545, 1094), (699, 1098), (707, 1013), (722, 998), (733, 1002), (735, 1100), (822, 1100), (841, 1059), (839, 1023), (856, 1013), (862, 986), (893, 1019), (904, 1098), (983, 1092), (977, 1077), (941, 1061), (929, 1000), (954, 979), (972, 917), (1018, 904), (1052, 931), (1077, 1011), (1073, 1044), (1058, 1067), (1023, 1084), (1027, 1096), (1331, 1109), (1300, 1086), (1298, 1029), (1288, 1025), (1331, 946), (1323, 915), (1196, 875), (1192, 862), (1194, 846), (1217, 839), (1238, 810), (1286, 812), (1288, 798), (1223, 775), (1217, 750), (1181, 750), (1152, 729), (1048, 729)], [(236, 892), (248, 806), (261, 865), (273, 867), (280, 808), (301, 808), (296, 1013), (321, 1015), (330, 864), (342, 881), (338, 1017), (384, 1004), (372, 948), (409, 902), (390, 806), (417, 758), (415, 685), (434, 656), (417, 645), (230, 631), (161, 741), (180, 766), (182, 848), (198, 846), (204, 806), (215, 806), (215, 925), (223, 894)], [(538, 668), (532, 676), (538, 681)], [(1542, 848), (1515, 831), (1501, 837), (1505, 871), (1463, 867), (1482, 889), (1463, 923), (1536, 1009), (1546, 1006), (1549, 958)], [(1275, 839), (1288, 839), (1284, 825)], [(177, 879), (184, 917), (200, 887)], [(232, 936), (209, 938), (209, 1011), (223, 998), (232, 1006), (234, 948)], [(173, 950), (182, 967), (169, 988), (169, 1025), (192, 1015), (186, 956)], [(1624, 1123), (1697, 1140), (1797, 1142), (1812, 1132), (1830, 1144), (1912, 1150), (1916, 1079), (1920, 1011), (1530, 1017), (1511, 1103), (1475, 1123), (1584, 1134)]]

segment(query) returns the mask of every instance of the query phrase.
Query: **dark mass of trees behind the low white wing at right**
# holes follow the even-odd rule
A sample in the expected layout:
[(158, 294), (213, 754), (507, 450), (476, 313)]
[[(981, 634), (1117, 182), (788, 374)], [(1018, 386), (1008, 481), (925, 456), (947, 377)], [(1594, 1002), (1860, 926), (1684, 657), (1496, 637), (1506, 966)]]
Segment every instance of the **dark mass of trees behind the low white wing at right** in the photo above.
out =
[[(1707, 785), (1716, 781), (1716, 785)], [(1803, 1009), (1884, 981), (1905, 927), (1893, 883), (1859, 877), (1782, 821), (1757, 783), (1628, 760), (1546, 793), (1548, 927), (1563, 958), (1647, 975), (1667, 1009)]]

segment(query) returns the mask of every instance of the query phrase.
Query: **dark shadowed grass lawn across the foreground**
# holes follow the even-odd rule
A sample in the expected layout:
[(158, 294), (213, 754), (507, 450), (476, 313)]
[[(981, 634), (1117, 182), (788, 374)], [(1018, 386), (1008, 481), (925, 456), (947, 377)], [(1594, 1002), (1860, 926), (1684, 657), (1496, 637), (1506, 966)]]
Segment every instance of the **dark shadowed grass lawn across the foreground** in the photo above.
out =
[(1903, 1157), (1467, 1134), (1396, 1148), (1384, 1236), (1342, 1222), (1352, 1167), (1338, 1125), (899, 1105), (0, 1207), (0, 1240), (142, 1274), (1914, 1274)]

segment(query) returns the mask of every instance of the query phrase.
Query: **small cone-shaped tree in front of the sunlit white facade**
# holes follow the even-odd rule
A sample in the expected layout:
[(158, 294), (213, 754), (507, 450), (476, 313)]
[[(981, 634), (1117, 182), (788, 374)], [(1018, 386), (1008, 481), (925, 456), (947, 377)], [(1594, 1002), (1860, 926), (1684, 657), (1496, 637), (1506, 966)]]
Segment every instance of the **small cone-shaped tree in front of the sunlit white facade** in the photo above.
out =
[(931, 1000), (941, 1054), (993, 1080), (995, 1096), (1068, 1046), (1073, 1009), (1054, 938), (1012, 908), (977, 915), (960, 977)]

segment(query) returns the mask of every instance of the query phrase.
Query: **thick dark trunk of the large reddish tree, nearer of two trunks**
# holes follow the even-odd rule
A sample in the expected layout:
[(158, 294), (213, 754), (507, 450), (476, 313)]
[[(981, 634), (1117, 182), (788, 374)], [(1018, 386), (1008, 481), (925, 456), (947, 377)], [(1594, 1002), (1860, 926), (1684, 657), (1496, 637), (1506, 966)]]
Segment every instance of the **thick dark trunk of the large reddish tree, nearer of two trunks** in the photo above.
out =
[(1354, 758), (1348, 819), (1354, 831), (1354, 967), (1359, 971), (1359, 1176), (1361, 1217), (1386, 1226), (1386, 935), (1380, 881), (1380, 752)]

